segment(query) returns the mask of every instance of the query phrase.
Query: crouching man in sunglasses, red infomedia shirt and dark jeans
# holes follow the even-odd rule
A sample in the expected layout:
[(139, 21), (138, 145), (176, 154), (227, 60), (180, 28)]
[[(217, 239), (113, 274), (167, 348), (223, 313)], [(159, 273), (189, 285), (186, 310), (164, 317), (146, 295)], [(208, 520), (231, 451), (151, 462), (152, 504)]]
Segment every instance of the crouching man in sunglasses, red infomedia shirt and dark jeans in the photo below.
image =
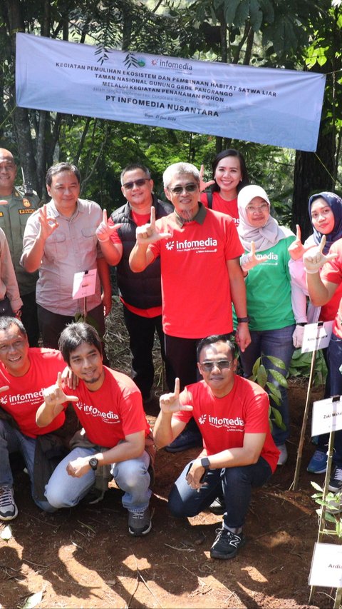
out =
[(237, 355), (227, 336), (203, 338), (197, 366), (202, 381), (180, 393), (176, 380), (175, 392), (161, 396), (155, 443), (166, 446), (195, 418), (204, 448), (173, 485), (169, 508), (175, 516), (195, 516), (221, 496), (222, 529), (210, 555), (233, 558), (244, 545), (252, 487), (270, 478), (279, 451), (269, 427), (269, 398), (259, 385), (235, 374)]

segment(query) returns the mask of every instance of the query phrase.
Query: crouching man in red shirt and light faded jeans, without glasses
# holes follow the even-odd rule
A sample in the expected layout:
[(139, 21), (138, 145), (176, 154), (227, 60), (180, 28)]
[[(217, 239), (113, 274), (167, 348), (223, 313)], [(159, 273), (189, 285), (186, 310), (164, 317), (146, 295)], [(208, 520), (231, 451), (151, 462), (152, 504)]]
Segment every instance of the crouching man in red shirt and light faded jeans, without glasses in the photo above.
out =
[[(73, 448), (59, 463), (46, 485), (46, 498), (55, 508), (77, 505), (95, 483), (98, 469), (110, 465), (110, 473), (124, 491), (131, 535), (151, 529), (150, 428), (142, 397), (133, 381), (102, 363), (98, 333), (87, 323), (71, 323), (61, 333), (59, 348), (79, 379), (74, 396), (66, 396), (61, 375), (44, 391), (38, 408), (38, 426), (48, 425), (66, 401), (72, 401), (83, 426), (83, 446)], [(152, 445), (152, 440), (150, 441)]]

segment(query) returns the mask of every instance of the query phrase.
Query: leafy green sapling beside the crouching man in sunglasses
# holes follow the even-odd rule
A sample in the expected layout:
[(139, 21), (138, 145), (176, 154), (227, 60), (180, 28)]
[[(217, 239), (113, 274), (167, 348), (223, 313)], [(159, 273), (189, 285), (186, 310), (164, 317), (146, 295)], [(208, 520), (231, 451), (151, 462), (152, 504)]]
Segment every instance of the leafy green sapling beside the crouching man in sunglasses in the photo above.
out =
[[(269, 393), (271, 401), (274, 402), (277, 406), (280, 406), (281, 393), (279, 391), (279, 388), (272, 381), (269, 380), (269, 374), (271, 374), (271, 376), (273, 376), (274, 378), (274, 381), (276, 381), (276, 383), (278, 383), (282, 387), (287, 387), (287, 381), (284, 374), (282, 374), (281, 372), (273, 370), (273, 368), (266, 369), (266, 366), (264, 366), (263, 363), (265, 359), (269, 360), (274, 366), (277, 366), (277, 368), (280, 368), (281, 370), (285, 369), (284, 361), (282, 361), (281, 359), (275, 358), (273, 356), (264, 356), (264, 354), (261, 354), (261, 357), (257, 358), (257, 361), (254, 363), (254, 366), (252, 368), (251, 380), (254, 381), (254, 383), (258, 383), (260, 387), (265, 389), (265, 391)], [(273, 406), (273, 404), (271, 403), (269, 406), (269, 423), (271, 428), (273, 426), (273, 423), (275, 423), (276, 426), (280, 429), (286, 429), (286, 426), (281, 417), (281, 413), (279, 412), (278, 408)]]

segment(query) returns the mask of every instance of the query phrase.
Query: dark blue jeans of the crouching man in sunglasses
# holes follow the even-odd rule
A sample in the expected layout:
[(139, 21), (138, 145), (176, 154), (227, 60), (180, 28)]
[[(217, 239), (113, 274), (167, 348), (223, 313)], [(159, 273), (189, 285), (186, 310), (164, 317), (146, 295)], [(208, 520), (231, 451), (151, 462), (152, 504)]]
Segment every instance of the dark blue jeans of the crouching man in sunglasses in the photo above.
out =
[(206, 485), (197, 493), (197, 489), (191, 488), (185, 479), (190, 465), (191, 463), (186, 465), (172, 486), (168, 503), (170, 512), (177, 517), (195, 516), (209, 508), (217, 495), (223, 493), (226, 504), (223, 520), (229, 528), (244, 525), (252, 487), (262, 486), (272, 473), (269, 463), (262, 457), (253, 465), (209, 470)]

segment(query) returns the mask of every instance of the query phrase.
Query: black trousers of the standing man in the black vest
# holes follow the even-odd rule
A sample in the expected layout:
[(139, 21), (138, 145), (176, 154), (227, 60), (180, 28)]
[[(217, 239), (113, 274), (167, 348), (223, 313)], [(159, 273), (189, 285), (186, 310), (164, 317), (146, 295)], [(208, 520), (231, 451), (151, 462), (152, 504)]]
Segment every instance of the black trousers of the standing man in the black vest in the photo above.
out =
[(155, 332), (160, 340), (160, 353), (165, 362), (166, 382), (169, 391), (175, 388), (175, 373), (165, 356), (165, 335), (162, 331), (162, 316), (142, 317), (128, 310), (123, 305), (123, 317), (130, 336), (130, 351), (132, 353), (132, 378), (138, 385), (142, 398), (150, 395), (155, 378), (152, 348), (155, 341)]

